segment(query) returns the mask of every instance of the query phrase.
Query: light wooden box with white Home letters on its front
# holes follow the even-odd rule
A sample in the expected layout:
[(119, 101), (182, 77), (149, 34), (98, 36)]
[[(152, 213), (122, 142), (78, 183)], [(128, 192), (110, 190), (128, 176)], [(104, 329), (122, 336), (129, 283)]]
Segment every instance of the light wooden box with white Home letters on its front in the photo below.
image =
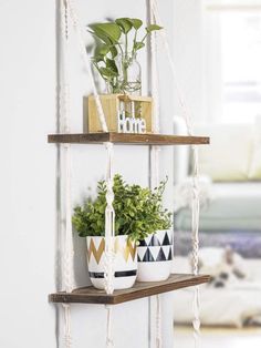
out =
[[(109, 132), (153, 133), (153, 99), (126, 94), (100, 95)], [(103, 132), (94, 95), (87, 98), (87, 132)]]

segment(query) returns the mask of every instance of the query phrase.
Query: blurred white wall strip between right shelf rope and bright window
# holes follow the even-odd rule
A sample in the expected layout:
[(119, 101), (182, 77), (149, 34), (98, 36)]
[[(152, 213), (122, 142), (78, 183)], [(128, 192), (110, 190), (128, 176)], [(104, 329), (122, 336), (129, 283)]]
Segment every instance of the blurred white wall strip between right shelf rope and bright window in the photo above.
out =
[[(174, 1), (174, 59), (177, 80), (194, 122), (202, 121), (203, 109), (203, 31), (202, 0)], [(175, 112), (182, 109), (174, 90)]]

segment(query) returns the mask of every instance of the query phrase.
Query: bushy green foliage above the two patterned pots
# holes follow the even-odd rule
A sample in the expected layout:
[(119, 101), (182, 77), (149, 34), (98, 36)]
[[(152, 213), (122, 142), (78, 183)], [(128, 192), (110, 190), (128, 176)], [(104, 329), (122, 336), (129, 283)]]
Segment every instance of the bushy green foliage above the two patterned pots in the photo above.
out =
[[(142, 240), (158, 229), (171, 226), (171, 214), (163, 208), (166, 181), (150, 191), (139, 185), (128, 185), (121, 175), (114, 176), (115, 235), (128, 235)], [(74, 208), (73, 226), (81, 237), (105, 235), (106, 183), (97, 184), (97, 197), (86, 199)]]

